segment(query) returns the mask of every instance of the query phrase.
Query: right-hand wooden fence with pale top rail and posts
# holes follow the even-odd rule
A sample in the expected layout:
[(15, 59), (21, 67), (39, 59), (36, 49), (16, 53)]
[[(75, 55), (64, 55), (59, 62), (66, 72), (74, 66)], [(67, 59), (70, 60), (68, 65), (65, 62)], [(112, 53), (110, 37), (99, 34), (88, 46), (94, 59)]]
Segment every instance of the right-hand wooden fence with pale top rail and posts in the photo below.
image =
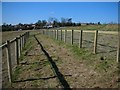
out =
[[(63, 38), (63, 32), (64, 31), (64, 38)], [(67, 37), (67, 32), (71, 32), (71, 45), (73, 45), (73, 41), (74, 41), (74, 31), (75, 30), (43, 30), (42, 33), (44, 35), (48, 35), (48, 36), (52, 36), (54, 38), (56, 38), (58, 40), (58, 34), (60, 33), (60, 40), (66, 43), (66, 37)], [(76, 30), (76, 32), (79, 32), (79, 48), (82, 48), (82, 41), (83, 41), (83, 32), (89, 32), (89, 33), (94, 33), (94, 48), (93, 48), (93, 53), (96, 54), (97, 53), (97, 42), (98, 42), (98, 33), (104, 33), (104, 34), (115, 34), (118, 35), (118, 32), (112, 32), (112, 31), (98, 31), (98, 30), (92, 30), (92, 31), (86, 31), (86, 30)], [(52, 35), (50, 35), (52, 33)], [(119, 37), (119, 36), (118, 36)], [(119, 41), (119, 40), (118, 40)], [(120, 43), (120, 42), (119, 42)], [(118, 45), (117, 48), (117, 62), (120, 62), (120, 45)]]

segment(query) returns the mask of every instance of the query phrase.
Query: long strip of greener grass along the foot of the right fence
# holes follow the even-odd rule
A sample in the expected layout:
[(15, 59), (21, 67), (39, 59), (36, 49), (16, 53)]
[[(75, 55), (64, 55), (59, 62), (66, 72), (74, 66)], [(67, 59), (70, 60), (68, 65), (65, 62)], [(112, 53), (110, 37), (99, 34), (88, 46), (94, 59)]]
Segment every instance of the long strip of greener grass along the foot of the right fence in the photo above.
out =
[(74, 58), (83, 61), (88, 67), (93, 66), (97, 71), (106, 71), (112, 69), (114, 65), (117, 65), (113, 59), (101, 60), (99, 54), (93, 54), (93, 52), (86, 48), (79, 48), (78, 44), (71, 45), (70, 43), (64, 43), (63, 41), (53, 39), (59, 46), (65, 47), (70, 50)]

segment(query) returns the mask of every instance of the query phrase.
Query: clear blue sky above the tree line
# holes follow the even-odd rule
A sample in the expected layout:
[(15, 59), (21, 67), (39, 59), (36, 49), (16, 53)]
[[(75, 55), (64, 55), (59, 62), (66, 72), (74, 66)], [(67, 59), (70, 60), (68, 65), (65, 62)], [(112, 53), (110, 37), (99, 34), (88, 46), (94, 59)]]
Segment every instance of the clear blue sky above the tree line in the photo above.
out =
[(55, 17), (73, 22), (118, 22), (117, 2), (2, 2), (2, 23), (35, 23)]

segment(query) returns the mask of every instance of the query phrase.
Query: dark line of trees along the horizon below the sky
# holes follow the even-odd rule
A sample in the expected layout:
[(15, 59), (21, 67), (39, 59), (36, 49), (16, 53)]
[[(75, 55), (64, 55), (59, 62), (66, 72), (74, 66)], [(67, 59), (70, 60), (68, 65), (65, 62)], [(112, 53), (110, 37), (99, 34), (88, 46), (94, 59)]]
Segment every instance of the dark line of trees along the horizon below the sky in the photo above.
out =
[[(86, 25), (94, 25), (95, 23), (86, 23)], [(100, 22), (98, 22), (100, 24)], [(43, 29), (46, 25), (52, 25), (52, 28), (57, 27), (67, 27), (67, 26), (81, 26), (81, 23), (72, 22), (72, 18), (61, 18), (59, 21), (57, 18), (50, 17), (48, 20), (38, 20), (36, 23), (31, 24), (6, 24), (3, 23), (2, 31), (16, 31), (16, 30), (33, 30), (33, 29)]]

